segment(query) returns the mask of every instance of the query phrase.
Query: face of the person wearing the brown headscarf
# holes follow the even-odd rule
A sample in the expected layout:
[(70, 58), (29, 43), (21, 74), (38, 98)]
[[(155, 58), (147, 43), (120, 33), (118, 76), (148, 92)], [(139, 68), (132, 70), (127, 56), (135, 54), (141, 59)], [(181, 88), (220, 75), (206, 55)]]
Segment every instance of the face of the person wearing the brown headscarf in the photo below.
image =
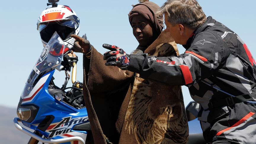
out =
[(149, 46), (158, 37), (153, 24), (142, 15), (132, 18), (132, 31), (140, 46)]

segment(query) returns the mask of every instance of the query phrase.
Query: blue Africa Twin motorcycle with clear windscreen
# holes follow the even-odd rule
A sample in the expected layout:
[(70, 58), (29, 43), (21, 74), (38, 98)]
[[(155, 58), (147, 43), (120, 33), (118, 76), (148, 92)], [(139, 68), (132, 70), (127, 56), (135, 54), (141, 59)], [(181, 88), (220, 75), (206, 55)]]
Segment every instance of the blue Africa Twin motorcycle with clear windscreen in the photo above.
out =
[[(92, 136), (87, 137), (91, 135), (91, 130), (82, 83), (76, 81), (76, 62), (77, 57), (65, 49), (63, 40), (55, 32), (25, 83), (17, 107), (18, 118), (13, 120), (18, 130), (31, 136), (29, 144), (39, 141), (85, 144), (92, 141)], [(73, 67), (72, 87), (66, 87), (71, 70), (68, 65)], [(53, 82), (56, 69), (65, 69), (66, 79), (61, 88)], [(21, 127), (19, 122), (34, 132)]]

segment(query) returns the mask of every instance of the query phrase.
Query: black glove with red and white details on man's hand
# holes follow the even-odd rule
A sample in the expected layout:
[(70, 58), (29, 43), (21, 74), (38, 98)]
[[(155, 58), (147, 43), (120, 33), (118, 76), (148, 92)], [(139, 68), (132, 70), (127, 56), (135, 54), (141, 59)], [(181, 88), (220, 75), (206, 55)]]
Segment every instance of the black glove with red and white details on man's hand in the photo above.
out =
[(111, 50), (104, 53), (103, 60), (106, 60), (106, 66), (117, 66), (122, 70), (128, 69), (130, 55), (126, 54), (123, 49), (110, 44), (103, 44), (102, 47)]

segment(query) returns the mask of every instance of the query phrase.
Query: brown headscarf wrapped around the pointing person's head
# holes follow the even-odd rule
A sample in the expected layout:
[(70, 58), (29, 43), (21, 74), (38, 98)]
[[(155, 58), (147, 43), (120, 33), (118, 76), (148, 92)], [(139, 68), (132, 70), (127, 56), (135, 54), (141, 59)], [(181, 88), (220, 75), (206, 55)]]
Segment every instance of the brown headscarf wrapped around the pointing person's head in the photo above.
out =
[(156, 31), (160, 34), (164, 28), (164, 18), (162, 15), (155, 14), (159, 8), (160, 7), (157, 4), (150, 1), (133, 5), (132, 10), (129, 12), (130, 24), (132, 25), (132, 18), (134, 16), (142, 15), (154, 25)]

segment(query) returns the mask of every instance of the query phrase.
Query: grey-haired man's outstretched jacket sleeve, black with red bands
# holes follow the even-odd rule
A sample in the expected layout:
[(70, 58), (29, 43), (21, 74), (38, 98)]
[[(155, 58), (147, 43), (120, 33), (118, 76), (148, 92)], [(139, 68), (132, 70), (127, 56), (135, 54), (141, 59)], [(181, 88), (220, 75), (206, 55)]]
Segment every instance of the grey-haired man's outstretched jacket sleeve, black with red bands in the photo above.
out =
[(217, 69), (222, 50), (217, 38), (209, 32), (199, 34), (194, 41), (178, 57), (155, 57), (145, 53), (129, 55), (128, 70), (139, 73), (143, 79), (166, 85), (195, 84)]

